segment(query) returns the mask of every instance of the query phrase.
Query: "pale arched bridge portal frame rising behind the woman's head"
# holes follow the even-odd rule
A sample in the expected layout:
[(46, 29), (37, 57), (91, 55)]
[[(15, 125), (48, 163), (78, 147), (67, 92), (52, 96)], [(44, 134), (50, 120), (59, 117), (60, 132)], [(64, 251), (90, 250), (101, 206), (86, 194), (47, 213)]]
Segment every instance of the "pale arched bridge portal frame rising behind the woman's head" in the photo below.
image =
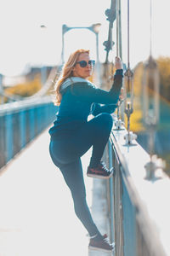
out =
[(70, 31), (71, 29), (88, 29), (91, 32), (94, 32), (94, 34), (96, 36), (96, 62), (97, 62), (97, 67), (99, 69), (99, 27), (100, 26), (101, 26), (100, 23), (93, 24), (92, 26), (66, 26), (64, 24), (62, 26), (62, 51), (61, 51), (62, 64), (64, 64), (65, 33)]

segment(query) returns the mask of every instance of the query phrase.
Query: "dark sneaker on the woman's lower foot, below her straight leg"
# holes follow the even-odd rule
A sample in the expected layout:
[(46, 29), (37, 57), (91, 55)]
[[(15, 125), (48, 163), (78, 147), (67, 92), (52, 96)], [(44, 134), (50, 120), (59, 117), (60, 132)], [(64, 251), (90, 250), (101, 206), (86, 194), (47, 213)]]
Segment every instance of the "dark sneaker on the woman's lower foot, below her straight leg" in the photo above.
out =
[(99, 250), (104, 252), (112, 252), (115, 249), (115, 243), (110, 243), (108, 237), (105, 234), (103, 238), (99, 241), (96, 241), (94, 238), (90, 239), (88, 249), (90, 250)]

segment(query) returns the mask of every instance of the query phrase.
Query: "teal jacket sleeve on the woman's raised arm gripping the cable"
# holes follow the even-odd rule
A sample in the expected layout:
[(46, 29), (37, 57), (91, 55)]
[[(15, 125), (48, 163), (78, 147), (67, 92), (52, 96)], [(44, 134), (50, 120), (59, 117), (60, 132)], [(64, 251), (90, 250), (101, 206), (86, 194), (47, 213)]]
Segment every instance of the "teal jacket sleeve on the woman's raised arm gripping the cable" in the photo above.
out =
[(72, 96), (78, 100), (90, 103), (114, 104), (118, 102), (122, 88), (122, 69), (116, 70), (111, 90), (96, 89), (87, 83), (75, 83), (72, 85)]

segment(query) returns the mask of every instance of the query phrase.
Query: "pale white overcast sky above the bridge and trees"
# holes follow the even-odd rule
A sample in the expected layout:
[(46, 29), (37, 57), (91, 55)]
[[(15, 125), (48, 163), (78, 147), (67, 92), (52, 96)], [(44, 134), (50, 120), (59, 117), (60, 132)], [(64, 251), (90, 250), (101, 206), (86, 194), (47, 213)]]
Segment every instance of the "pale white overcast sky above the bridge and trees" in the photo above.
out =
[[(170, 56), (168, 0), (152, 3), (152, 55)], [(101, 23), (99, 61), (105, 61), (103, 43), (108, 38), (109, 21), (105, 9), (111, 0), (1, 0), (0, 73), (13, 76), (31, 66), (58, 65), (62, 49), (62, 25), (91, 26)], [(40, 26), (45, 25), (42, 29)], [(116, 22), (113, 26), (116, 41)], [(65, 60), (72, 51), (90, 49), (96, 58), (96, 36), (87, 29), (65, 33)], [(130, 0), (130, 63), (134, 67), (150, 54), (150, 1)], [(116, 55), (116, 45), (110, 53)], [(127, 62), (127, 0), (122, 0), (122, 61)]]

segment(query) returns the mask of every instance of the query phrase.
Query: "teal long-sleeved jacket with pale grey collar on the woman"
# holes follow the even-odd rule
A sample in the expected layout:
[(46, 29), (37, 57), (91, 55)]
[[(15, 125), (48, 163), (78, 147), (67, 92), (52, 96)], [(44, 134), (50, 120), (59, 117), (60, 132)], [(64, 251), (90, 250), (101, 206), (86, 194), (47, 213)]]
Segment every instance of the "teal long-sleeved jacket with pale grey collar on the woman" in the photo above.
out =
[(88, 115), (113, 113), (122, 88), (122, 69), (116, 70), (111, 90), (95, 88), (86, 79), (71, 77), (61, 85), (62, 100), (57, 118), (49, 129), (52, 139), (71, 136), (88, 121)]

